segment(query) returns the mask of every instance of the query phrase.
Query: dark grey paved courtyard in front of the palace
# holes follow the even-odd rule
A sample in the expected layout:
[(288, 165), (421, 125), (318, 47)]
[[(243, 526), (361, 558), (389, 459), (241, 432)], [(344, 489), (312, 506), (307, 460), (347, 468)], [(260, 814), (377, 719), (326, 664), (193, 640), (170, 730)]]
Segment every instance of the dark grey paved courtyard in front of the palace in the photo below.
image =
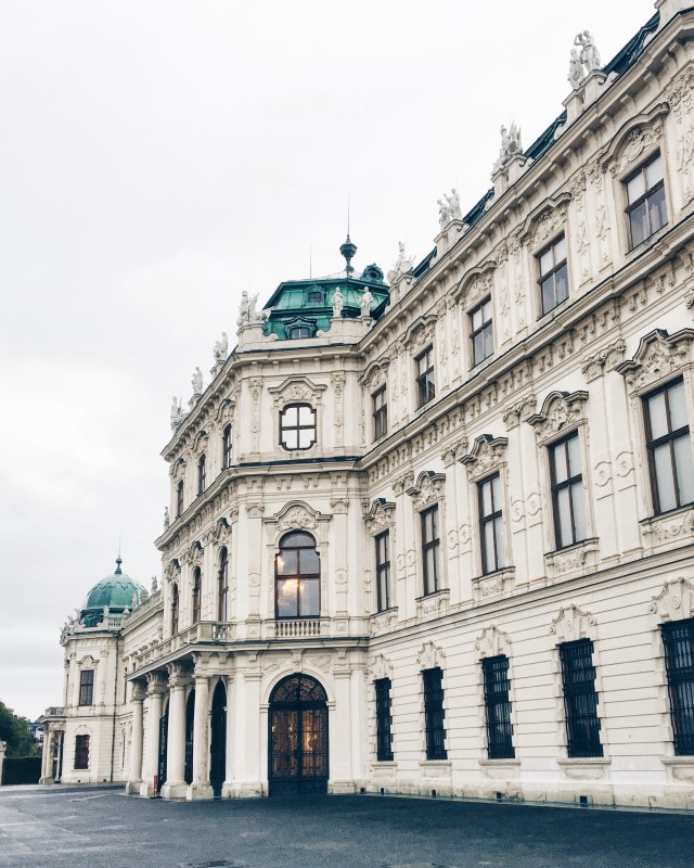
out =
[(388, 796), (0, 790), (0, 868), (692, 868), (694, 817)]

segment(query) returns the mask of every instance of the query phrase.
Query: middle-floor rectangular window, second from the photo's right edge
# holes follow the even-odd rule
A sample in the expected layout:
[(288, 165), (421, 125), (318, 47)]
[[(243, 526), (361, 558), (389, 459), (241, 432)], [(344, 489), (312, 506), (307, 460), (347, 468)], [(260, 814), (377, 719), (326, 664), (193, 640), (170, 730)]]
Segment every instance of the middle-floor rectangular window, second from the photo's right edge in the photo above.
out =
[(561, 549), (586, 539), (578, 431), (550, 446), (550, 476), (555, 545)]

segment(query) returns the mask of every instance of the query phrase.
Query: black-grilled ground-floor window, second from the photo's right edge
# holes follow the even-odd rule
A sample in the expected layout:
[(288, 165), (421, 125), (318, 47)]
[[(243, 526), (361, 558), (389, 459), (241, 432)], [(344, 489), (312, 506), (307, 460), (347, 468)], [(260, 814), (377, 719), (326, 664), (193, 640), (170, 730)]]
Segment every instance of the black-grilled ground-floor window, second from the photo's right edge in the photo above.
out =
[(569, 756), (602, 756), (595, 692), (593, 643), (590, 639), (560, 646), (566, 737)]

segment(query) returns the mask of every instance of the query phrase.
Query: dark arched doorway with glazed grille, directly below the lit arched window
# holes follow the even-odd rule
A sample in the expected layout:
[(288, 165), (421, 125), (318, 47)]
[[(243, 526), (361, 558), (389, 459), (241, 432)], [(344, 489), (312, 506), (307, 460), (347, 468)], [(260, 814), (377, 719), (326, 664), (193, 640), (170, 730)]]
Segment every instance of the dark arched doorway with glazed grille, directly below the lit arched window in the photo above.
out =
[(308, 675), (290, 675), (270, 697), (270, 795), (327, 793), (327, 697)]

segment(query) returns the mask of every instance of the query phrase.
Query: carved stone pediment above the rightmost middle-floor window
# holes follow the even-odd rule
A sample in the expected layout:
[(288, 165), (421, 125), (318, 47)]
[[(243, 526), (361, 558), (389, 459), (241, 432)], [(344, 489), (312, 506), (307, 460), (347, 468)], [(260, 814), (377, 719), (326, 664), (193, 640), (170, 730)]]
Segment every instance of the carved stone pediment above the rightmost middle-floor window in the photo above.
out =
[(694, 329), (682, 329), (672, 336), (663, 329), (641, 339), (634, 357), (617, 366), (630, 392), (657, 385), (692, 361)]

